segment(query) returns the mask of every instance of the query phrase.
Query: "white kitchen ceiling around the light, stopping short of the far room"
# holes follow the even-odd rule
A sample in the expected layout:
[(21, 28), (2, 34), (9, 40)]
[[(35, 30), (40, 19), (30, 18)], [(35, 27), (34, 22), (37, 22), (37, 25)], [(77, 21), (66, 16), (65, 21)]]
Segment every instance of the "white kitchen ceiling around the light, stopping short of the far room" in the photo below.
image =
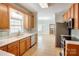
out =
[(66, 11), (71, 4), (69, 3), (49, 3), (49, 8), (41, 8), (38, 3), (20, 3), (23, 7), (29, 9), (32, 12), (38, 13), (59, 13)]

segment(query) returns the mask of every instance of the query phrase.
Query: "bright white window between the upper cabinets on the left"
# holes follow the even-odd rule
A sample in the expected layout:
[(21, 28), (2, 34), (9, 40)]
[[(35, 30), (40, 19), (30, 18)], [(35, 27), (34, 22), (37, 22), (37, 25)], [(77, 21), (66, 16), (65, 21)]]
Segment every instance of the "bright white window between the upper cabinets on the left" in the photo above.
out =
[(23, 32), (23, 20), (24, 15), (15, 10), (10, 8), (10, 32)]

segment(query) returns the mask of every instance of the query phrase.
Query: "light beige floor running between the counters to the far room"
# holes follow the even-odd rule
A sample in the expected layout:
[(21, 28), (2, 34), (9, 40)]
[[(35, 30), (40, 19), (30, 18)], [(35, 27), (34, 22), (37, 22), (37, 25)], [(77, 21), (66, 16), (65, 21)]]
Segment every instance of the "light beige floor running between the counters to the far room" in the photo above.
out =
[(59, 56), (60, 48), (55, 47), (55, 35), (38, 36), (38, 43), (23, 56)]

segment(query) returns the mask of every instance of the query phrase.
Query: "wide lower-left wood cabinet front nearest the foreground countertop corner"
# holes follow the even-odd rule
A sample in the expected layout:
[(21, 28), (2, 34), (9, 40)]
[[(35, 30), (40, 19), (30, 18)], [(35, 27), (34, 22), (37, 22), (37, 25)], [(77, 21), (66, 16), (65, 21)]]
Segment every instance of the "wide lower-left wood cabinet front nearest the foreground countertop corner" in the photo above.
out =
[(13, 42), (8, 45), (8, 52), (19, 55), (19, 41)]

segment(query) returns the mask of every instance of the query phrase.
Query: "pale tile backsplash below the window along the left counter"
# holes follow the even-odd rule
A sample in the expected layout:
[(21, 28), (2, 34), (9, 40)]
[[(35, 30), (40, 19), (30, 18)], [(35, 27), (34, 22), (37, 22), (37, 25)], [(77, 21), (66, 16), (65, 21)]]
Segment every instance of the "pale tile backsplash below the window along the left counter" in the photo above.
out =
[(36, 30), (23, 30), (22, 32), (11, 32), (10, 30), (0, 30), (0, 39), (4, 39), (4, 38), (10, 38), (10, 37), (15, 37), (18, 35), (23, 35), (24, 33), (33, 33), (36, 32)]

